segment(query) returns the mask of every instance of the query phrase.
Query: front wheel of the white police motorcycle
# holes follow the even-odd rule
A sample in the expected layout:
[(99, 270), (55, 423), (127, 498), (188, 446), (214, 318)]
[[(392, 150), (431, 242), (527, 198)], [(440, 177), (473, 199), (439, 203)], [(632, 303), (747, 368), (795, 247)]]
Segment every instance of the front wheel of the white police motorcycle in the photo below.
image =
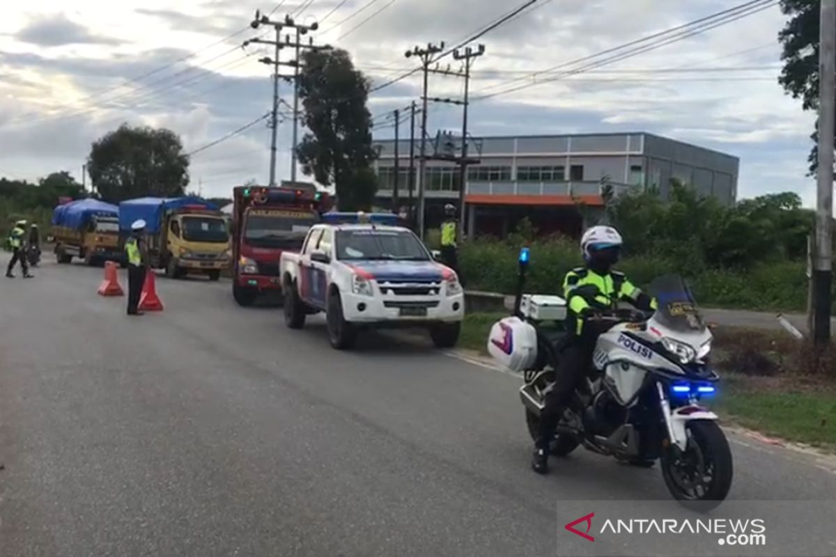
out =
[(681, 451), (674, 443), (661, 458), (662, 477), (674, 499), (686, 507), (709, 511), (719, 506), (732, 489), (732, 451), (716, 422), (686, 423), (688, 444)]

